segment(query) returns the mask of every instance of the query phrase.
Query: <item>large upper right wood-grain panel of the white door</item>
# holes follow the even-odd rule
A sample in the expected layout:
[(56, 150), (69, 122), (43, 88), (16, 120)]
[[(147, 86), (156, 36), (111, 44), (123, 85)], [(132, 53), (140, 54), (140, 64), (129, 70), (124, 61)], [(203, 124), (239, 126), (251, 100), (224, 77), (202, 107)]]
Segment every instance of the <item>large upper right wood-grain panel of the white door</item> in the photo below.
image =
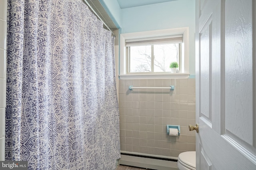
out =
[(251, 0), (225, 2), (225, 129), (252, 145)]

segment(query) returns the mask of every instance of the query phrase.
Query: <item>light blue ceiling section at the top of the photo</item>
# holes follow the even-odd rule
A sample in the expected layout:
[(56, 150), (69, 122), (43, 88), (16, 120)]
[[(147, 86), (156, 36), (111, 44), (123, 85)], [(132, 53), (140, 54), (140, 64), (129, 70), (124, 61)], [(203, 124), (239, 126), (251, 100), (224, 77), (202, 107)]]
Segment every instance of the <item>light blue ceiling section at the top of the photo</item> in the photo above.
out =
[(158, 4), (158, 3), (170, 2), (170, 1), (174, 1), (174, 0), (117, 0), (121, 9), (150, 5), (150, 4)]

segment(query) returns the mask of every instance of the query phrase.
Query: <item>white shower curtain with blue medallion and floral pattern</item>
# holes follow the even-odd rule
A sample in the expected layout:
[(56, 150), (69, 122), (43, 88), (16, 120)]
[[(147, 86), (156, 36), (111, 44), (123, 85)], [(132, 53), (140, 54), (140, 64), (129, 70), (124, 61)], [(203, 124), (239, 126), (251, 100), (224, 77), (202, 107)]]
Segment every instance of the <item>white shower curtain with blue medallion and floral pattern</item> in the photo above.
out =
[(82, 0), (8, 0), (6, 160), (114, 170), (114, 37)]

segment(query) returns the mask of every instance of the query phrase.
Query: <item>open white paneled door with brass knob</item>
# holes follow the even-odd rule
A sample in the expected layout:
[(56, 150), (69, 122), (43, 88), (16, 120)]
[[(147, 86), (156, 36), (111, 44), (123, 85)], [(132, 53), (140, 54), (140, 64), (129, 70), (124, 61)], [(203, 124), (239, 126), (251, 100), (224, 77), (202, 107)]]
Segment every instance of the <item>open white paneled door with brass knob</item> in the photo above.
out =
[(196, 0), (196, 169), (256, 170), (256, 0)]

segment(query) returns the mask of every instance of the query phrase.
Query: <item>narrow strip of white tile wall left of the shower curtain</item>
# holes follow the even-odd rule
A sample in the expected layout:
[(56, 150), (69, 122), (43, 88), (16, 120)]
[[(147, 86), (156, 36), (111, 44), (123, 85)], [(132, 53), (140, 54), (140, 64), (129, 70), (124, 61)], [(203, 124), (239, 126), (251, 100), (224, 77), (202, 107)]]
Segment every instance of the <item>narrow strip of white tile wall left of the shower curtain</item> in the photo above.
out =
[(6, 106), (6, 37), (7, 0), (0, 2), (0, 161), (4, 160)]

